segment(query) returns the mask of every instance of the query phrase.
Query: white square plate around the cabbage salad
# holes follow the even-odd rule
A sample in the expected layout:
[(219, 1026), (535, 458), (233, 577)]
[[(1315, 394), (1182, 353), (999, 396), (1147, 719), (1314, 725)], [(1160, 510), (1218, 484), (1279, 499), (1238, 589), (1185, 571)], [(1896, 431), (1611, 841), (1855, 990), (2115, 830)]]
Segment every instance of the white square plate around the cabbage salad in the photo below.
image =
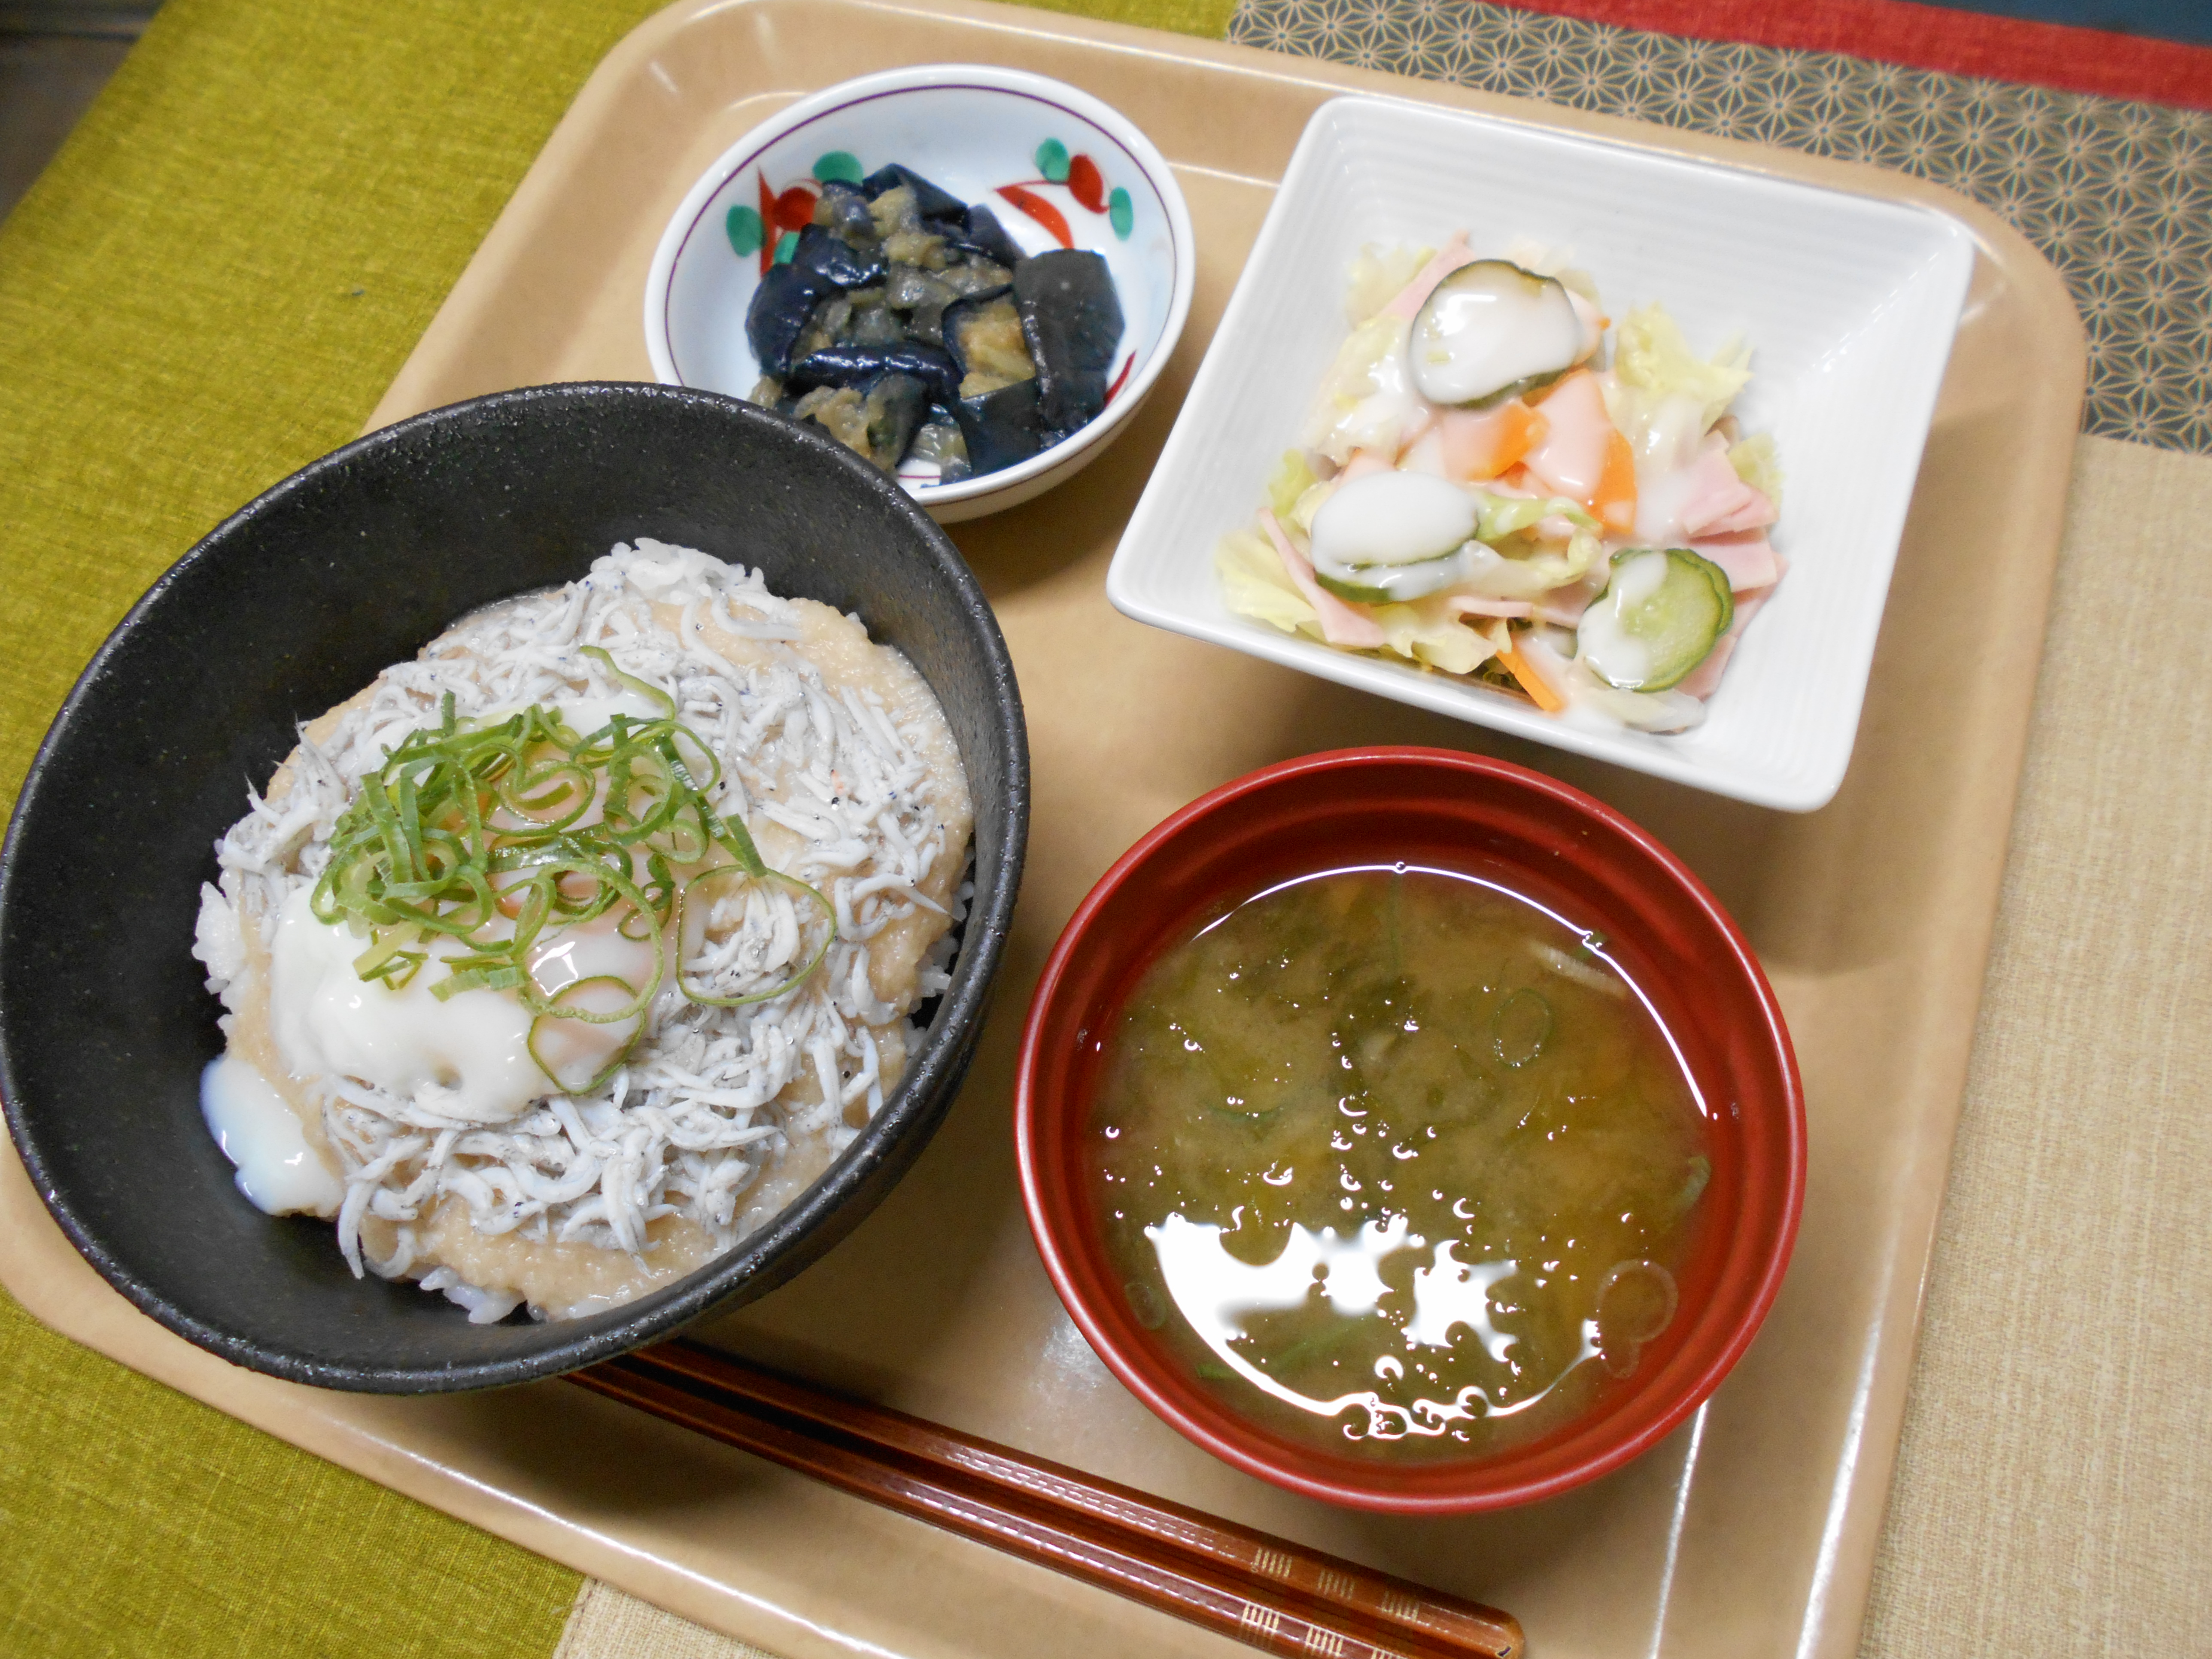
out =
[[(1703, 726), (1568, 726), (1506, 692), (1234, 615), (1214, 542), (1245, 524), (1347, 330), (1365, 243), (1573, 252), (1615, 319), (1661, 301), (1692, 349), (1741, 334), (1734, 403), (1774, 434), (1790, 573), (1745, 628)], [(1383, 97), (1323, 104), (1106, 577), (1139, 622), (1537, 743), (1756, 805), (1812, 812), (1851, 759), (1874, 639), (1973, 237), (1942, 212)], [(1608, 336), (1610, 338), (1610, 336)]]

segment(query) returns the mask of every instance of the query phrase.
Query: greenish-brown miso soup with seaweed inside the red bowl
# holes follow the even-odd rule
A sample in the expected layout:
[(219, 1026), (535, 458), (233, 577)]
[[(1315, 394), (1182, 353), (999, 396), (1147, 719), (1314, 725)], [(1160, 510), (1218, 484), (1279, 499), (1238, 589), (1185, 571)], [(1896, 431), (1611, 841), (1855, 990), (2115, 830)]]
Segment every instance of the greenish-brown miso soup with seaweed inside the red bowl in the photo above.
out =
[(1674, 1323), (1712, 1175), (1597, 933), (1442, 869), (1334, 869), (1170, 947), (1106, 1037), (1091, 1175), (1124, 1294), (1321, 1447), (1498, 1451)]

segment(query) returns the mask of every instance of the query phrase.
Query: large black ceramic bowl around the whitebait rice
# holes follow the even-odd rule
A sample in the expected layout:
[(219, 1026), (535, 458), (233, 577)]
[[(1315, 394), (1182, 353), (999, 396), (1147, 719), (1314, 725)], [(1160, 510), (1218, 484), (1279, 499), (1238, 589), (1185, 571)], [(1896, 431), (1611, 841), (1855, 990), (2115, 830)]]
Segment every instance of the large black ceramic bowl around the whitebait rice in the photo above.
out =
[[(354, 1279), (327, 1221), (268, 1217), (199, 1110), (221, 1051), (190, 956), (212, 841), (296, 723), (493, 599), (655, 538), (856, 613), (951, 723), (975, 898), (951, 989), (852, 1148), (730, 1254), (593, 1318), (471, 1325)], [(276, 484), (177, 562), (77, 681), (0, 856), (0, 1091), (46, 1208), (179, 1336), (296, 1383), (385, 1394), (524, 1383), (781, 1285), (907, 1170), (967, 1071), (1029, 834), (1006, 644), (929, 518), (838, 445), (734, 398), (653, 385), (504, 392), (376, 431)]]

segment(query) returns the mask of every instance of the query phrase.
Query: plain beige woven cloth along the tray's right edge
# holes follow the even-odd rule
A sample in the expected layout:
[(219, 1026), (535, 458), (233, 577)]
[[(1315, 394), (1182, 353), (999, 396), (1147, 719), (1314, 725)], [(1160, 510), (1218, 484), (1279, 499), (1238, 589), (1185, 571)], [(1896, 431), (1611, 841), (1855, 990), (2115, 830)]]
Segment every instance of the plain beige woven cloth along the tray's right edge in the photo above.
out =
[(1863, 1659), (2212, 1632), (2208, 522), (2081, 440)]

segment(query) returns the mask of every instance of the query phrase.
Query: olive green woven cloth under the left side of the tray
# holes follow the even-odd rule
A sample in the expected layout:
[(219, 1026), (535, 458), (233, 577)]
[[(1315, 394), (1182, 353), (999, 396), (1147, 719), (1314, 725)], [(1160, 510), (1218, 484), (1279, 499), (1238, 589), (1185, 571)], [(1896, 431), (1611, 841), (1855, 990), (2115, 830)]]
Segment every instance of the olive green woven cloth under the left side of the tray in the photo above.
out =
[[(1055, 9), (1219, 35), (1230, 2)], [(0, 807), (133, 599), (361, 429), (650, 11), (168, 0), (0, 226)], [(0, 1294), (0, 1655), (540, 1659), (577, 1584)]]

